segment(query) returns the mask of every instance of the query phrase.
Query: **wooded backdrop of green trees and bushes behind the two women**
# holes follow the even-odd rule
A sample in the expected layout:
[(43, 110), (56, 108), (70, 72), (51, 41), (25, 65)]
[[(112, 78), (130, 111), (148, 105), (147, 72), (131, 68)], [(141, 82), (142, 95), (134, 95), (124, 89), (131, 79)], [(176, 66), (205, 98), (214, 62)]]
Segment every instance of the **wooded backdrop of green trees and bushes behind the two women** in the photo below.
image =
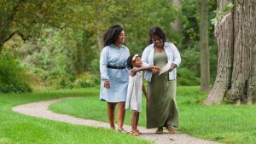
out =
[[(210, 0), (208, 23), (216, 7)], [(150, 27), (163, 28), (182, 55), (178, 84), (200, 84), (198, 0), (183, 1), (180, 8), (170, 0), (1, 0), (0, 14), (1, 92), (99, 84), (102, 36), (113, 24), (125, 28), (131, 54), (142, 54)], [(178, 31), (171, 25), (175, 20)], [(208, 32), (213, 83), (218, 47), (212, 25)]]

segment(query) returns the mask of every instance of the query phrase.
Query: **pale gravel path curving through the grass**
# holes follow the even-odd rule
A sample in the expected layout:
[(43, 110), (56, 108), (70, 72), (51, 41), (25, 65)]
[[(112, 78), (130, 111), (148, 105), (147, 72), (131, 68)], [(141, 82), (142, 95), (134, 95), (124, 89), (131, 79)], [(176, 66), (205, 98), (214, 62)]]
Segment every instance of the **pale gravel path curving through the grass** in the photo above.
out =
[[(25, 105), (20, 105), (17, 107), (13, 107), (13, 111), (20, 112), (22, 114), (26, 114), (29, 116), (34, 116), (38, 118), (46, 118), (55, 121), (61, 121), (70, 124), (79, 124), (79, 125), (86, 125), (86, 126), (94, 126), (94, 127), (101, 127), (104, 129), (109, 129), (108, 123), (99, 122), (95, 120), (89, 119), (82, 119), (82, 118), (74, 118), (72, 116), (68, 116), (65, 114), (54, 113), (48, 110), (49, 105), (57, 102), (62, 101), (67, 98), (49, 100), (49, 101), (38, 101), (33, 102)], [(106, 116), (107, 117), (107, 116)], [(124, 125), (125, 130), (131, 130), (130, 125)], [(217, 142), (213, 141), (205, 141), (195, 137), (191, 137), (186, 134), (177, 133), (175, 135), (168, 134), (166, 131), (162, 135), (154, 134), (155, 130), (146, 129), (143, 127), (139, 127), (138, 130), (142, 132), (143, 135), (140, 135), (143, 139), (148, 141), (154, 141), (157, 144), (218, 144)]]

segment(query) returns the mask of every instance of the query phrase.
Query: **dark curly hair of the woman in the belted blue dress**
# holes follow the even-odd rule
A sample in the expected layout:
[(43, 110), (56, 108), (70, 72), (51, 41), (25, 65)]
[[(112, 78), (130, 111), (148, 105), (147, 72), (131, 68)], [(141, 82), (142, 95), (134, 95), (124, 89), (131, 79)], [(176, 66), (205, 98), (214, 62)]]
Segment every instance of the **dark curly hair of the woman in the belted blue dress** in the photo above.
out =
[(103, 37), (103, 45), (108, 46), (110, 44), (115, 43), (117, 38), (119, 37), (119, 34), (123, 31), (123, 27), (119, 25), (114, 25), (109, 27), (108, 31), (104, 34)]

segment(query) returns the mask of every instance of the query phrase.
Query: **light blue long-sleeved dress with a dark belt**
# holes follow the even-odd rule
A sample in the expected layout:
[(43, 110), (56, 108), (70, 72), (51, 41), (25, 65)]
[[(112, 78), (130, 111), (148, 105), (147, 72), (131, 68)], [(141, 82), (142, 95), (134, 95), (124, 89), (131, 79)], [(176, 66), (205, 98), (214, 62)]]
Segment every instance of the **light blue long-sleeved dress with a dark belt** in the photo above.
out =
[[(101, 90), (100, 100), (108, 102), (126, 101), (127, 87), (129, 81), (129, 70), (127, 69), (127, 59), (130, 51), (122, 45), (120, 49), (111, 44), (102, 49), (100, 60)], [(107, 66), (125, 66), (125, 69), (113, 69)], [(110, 82), (110, 89), (104, 88), (103, 83)]]

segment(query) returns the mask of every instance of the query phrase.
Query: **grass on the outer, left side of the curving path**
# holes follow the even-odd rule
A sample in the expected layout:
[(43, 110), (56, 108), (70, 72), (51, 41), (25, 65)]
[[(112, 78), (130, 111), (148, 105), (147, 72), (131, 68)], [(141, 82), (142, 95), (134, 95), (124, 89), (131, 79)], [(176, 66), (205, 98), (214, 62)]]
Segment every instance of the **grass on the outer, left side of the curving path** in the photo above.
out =
[(0, 144), (150, 143), (113, 130), (33, 118), (12, 111), (12, 107), (16, 105), (33, 101), (44, 101), (64, 96), (86, 97), (90, 95), (97, 95), (96, 89), (0, 95)]

